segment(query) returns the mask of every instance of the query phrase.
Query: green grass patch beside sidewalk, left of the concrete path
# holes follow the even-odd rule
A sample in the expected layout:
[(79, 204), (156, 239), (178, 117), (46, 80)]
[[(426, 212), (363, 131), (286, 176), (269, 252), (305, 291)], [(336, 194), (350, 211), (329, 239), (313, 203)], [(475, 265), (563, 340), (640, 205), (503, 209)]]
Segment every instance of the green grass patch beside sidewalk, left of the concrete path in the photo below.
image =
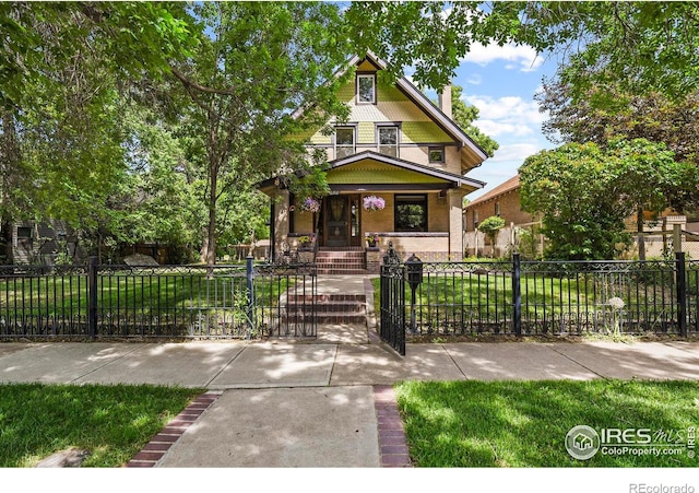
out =
[(57, 451), (83, 467), (121, 467), (202, 389), (156, 386), (0, 386), (0, 467), (34, 467)]

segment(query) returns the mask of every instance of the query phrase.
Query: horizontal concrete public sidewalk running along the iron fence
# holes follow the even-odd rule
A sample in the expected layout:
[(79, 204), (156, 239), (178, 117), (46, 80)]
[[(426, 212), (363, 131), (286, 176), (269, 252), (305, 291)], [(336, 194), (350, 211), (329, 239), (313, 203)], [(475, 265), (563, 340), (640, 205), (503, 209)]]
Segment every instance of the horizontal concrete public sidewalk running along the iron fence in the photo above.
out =
[[(345, 328), (345, 330), (348, 330)], [(0, 382), (240, 388), (460, 379), (699, 379), (699, 342), (0, 344)]]

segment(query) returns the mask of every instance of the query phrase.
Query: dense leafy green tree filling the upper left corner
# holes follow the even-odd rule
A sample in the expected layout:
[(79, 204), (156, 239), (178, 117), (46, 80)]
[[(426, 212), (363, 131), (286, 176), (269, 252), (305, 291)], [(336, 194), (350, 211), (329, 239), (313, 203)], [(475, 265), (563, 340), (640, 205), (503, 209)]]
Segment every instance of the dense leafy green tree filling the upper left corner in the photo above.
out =
[(183, 17), (178, 3), (0, 3), (3, 223), (51, 216), (99, 235), (112, 221), (129, 89), (196, 45)]

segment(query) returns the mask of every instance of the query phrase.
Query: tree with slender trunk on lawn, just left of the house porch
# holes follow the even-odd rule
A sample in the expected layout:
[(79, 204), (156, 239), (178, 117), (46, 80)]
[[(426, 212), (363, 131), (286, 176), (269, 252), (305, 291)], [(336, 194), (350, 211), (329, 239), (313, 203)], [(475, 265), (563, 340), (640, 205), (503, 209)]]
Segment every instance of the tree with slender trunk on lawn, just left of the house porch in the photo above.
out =
[(205, 2), (193, 9), (208, 36), (171, 70), (194, 107), (191, 136), (202, 137), (190, 143), (192, 154), (205, 157), (202, 260), (211, 265), (222, 196), (282, 167), (308, 167), (304, 143), (289, 136), (346, 115), (335, 94), (343, 80), (333, 74), (347, 49), (335, 4)]

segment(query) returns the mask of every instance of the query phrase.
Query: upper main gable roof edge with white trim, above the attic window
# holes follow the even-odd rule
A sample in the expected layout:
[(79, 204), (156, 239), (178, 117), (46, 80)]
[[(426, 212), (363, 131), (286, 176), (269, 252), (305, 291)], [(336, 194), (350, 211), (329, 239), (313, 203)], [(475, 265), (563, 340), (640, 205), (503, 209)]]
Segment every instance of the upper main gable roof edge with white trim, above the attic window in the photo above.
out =
[[(380, 58), (378, 58), (371, 51), (368, 51), (365, 57), (354, 56), (347, 63), (347, 67), (353, 67), (359, 64), (363, 60), (368, 60), (371, 62), (377, 69), (388, 70), (388, 63)], [(340, 73), (344, 73), (347, 69), (344, 69)], [(437, 125), (439, 125), (449, 136), (451, 136), (457, 142), (459, 142), (463, 148), (470, 151), (471, 154), (476, 159), (476, 161), (485, 161), (488, 155), (487, 153), (476, 144), (471, 137), (464, 132), (461, 127), (459, 127), (454, 120), (445, 115), (445, 113), (439, 109), (429, 98), (411, 81), (408, 81), (405, 77), (401, 77), (395, 85), (401, 89), (405, 95), (413, 101), (417, 106), (419, 106), (423, 111), (425, 111), (430, 118), (433, 118)]]

